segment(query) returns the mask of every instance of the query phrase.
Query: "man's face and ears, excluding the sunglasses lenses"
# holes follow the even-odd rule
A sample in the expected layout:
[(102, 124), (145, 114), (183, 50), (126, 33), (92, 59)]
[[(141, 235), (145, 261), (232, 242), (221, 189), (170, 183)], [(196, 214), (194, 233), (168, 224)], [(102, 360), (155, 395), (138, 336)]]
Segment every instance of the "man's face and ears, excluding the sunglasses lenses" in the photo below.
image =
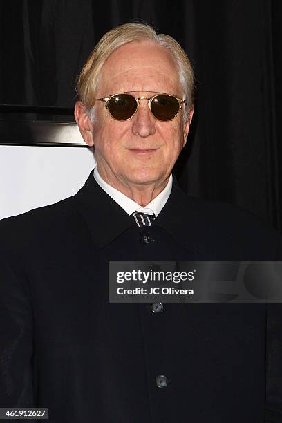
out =
[[(122, 92), (135, 97), (167, 93), (183, 98), (176, 64), (167, 50), (135, 42), (115, 50), (102, 68), (96, 98)], [(95, 102), (94, 122), (84, 118), (79, 124), (84, 140), (95, 146), (102, 178), (113, 186), (161, 185), (185, 145), (193, 111), (188, 122), (182, 110), (175, 119), (161, 122), (151, 114), (148, 100), (140, 100), (133, 118), (118, 121), (105, 104)]]

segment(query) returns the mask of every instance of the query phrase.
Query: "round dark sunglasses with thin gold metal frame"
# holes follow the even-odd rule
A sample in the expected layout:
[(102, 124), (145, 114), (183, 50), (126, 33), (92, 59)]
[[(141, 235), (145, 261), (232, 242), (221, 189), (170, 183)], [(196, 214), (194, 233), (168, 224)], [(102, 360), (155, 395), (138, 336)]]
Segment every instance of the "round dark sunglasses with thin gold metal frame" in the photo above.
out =
[[(144, 91), (144, 93), (146, 92)], [(153, 95), (153, 97), (134, 97), (129, 93), (118, 93), (109, 95), (109, 97), (96, 98), (95, 100), (106, 102), (106, 109), (109, 110), (115, 120), (131, 119), (138, 110), (139, 100), (148, 100), (148, 107), (151, 113), (162, 122), (176, 118), (180, 109), (182, 109), (182, 104), (186, 104), (182, 98), (164, 93)]]

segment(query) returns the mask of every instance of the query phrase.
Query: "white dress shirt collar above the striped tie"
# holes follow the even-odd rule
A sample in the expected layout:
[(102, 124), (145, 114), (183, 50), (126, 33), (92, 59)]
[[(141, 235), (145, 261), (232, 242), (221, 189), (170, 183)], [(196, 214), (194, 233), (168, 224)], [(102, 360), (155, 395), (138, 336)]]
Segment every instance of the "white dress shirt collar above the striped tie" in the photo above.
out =
[(137, 211), (145, 214), (155, 214), (157, 217), (158, 214), (160, 214), (162, 207), (164, 207), (165, 203), (167, 203), (172, 188), (172, 175), (170, 175), (169, 182), (167, 182), (166, 187), (160, 192), (160, 194), (151, 200), (145, 207), (142, 207), (125, 194), (122, 194), (122, 192), (118, 191), (118, 189), (115, 189), (105, 182), (98, 173), (97, 166), (94, 169), (94, 178), (97, 184), (106, 191), (106, 194), (109, 194), (109, 196), (113, 198), (113, 200), (115, 200), (115, 202), (118, 203), (118, 205), (120, 205), (120, 207), (122, 207), (122, 209), (124, 209), (124, 211), (129, 215)]

